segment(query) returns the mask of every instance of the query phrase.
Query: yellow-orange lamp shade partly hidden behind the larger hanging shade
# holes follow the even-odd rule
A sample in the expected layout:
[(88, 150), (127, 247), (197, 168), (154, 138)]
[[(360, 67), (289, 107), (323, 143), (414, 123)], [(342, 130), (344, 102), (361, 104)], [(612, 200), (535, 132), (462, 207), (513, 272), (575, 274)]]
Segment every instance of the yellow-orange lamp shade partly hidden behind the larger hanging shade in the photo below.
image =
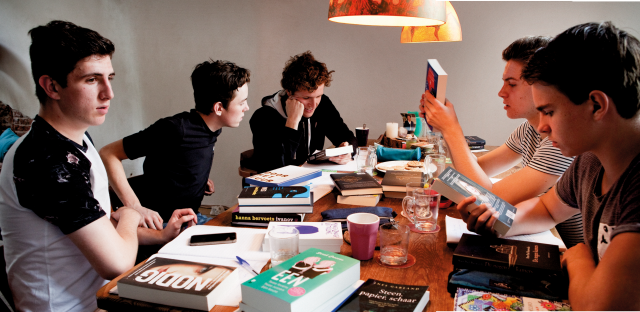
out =
[(456, 10), (446, 1), (447, 20), (444, 25), (402, 27), (401, 43), (462, 41), (462, 28)]

